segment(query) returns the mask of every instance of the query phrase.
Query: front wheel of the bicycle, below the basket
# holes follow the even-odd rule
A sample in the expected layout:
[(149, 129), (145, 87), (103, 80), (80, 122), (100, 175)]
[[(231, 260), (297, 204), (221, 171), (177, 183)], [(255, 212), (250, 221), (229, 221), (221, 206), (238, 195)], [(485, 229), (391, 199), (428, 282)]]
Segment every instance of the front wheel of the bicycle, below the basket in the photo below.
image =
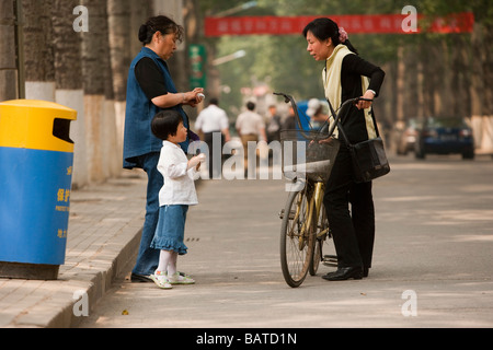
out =
[(280, 267), (286, 283), (293, 288), (303, 282), (313, 256), (314, 236), (312, 228), (307, 226), (306, 192), (303, 189), (289, 195), (280, 226)]

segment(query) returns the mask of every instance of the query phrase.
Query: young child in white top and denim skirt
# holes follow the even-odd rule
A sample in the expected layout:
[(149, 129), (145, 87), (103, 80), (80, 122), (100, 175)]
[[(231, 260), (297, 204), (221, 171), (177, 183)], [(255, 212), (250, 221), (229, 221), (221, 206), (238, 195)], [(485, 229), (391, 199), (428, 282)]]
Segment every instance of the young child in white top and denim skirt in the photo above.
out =
[(176, 110), (162, 110), (151, 122), (152, 133), (163, 140), (158, 171), (164, 178), (159, 191), (159, 222), (151, 247), (160, 249), (158, 269), (150, 278), (162, 289), (171, 289), (172, 284), (193, 284), (195, 281), (181, 276), (176, 270), (176, 258), (185, 255), (187, 247), (183, 243), (185, 220), (188, 206), (198, 203), (195, 191), (194, 172), (198, 171), (204, 154), (190, 161), (181, 149), (186, 140), (187, 129), (183, 118)]

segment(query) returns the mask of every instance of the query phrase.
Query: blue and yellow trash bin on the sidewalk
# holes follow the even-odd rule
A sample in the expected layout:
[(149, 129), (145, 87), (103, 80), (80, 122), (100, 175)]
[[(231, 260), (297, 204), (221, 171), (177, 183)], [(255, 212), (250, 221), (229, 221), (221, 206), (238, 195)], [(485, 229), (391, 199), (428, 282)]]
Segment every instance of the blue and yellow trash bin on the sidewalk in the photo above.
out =
[(0, 277), (58, 278), (65, 264), (72, 183), (70, 122), (45, 102), (0, 103)]

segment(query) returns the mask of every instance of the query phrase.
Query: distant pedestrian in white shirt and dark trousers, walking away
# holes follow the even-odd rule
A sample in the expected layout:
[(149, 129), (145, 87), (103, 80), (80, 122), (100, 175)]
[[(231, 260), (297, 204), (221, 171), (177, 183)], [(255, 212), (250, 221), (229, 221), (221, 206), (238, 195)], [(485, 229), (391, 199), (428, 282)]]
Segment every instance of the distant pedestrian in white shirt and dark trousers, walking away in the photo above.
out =
[[(222, 144), (229, 142), (229, 120), (228, 115), (221, 108), (219, 108), (219, 101), (217, 98), (210, 98), (207, 108), (204, 108), (195, 121), (195, 129), (204, 133), (204, 142), (208, 147), (208, 168), (209, 178), (220, 177), (221, 174), (221, 163), (222, 163)], [(216, 139), (220, 140), (219, 154), (214, 152), (214, 136)], [(218, 158), (218, 159), (217, 159)]]

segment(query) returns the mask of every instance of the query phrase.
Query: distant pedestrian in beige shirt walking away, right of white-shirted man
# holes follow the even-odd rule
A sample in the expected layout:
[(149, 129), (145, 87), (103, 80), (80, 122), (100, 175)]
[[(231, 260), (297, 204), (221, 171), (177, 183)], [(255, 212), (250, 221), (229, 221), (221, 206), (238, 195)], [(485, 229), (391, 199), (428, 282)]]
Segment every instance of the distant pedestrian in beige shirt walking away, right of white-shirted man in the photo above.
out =
[[(249, 142), (267, 142), (267, 136), (265, 133), (265, 122), (262, 116), (255, 110), (255, 104), (253, 102), (246, 103), (246, 110), (238, 116), (236, 128), (238, 135), (241, 138), (243, 144), (244, 154), (244, 174), (246, 175), (249, 168)], [(252, 162), (256, 162), (256, 155)]]

